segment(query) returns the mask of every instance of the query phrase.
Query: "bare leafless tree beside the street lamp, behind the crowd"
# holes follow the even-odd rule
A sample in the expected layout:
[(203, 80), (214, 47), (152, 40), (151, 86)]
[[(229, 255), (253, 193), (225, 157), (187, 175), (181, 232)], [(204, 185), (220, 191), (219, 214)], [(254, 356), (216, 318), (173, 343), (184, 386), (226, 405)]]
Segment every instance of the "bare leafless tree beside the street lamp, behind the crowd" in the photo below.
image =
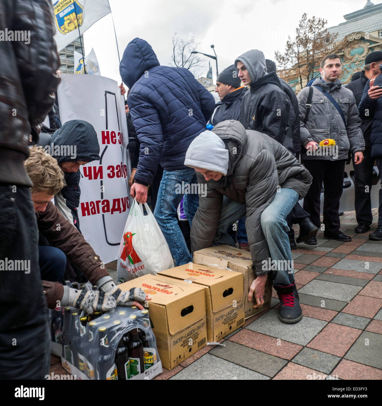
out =
[(179, 38), (175, 33), (172, 37), (172, 60), (171, 65), (181, 68), (189, 69), (195, 76), (195, 72), (200, 67), (204, 67), (204, 58), (201, 58), (198, 54), (192, 54), (196, 50), (199, 43), (195, 44), (195, 40), (190, 35), (188, 41)]

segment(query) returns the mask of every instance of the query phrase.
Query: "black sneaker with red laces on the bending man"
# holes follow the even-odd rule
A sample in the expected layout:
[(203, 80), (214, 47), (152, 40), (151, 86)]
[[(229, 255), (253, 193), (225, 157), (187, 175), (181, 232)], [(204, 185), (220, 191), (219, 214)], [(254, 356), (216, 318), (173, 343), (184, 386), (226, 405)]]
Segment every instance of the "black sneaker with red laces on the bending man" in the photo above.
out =
[(303, 311), (300, 307), (296, 284), (275, 286), (280, 299), (279, 319), (283, 323), (294, 324), (303, 318)]

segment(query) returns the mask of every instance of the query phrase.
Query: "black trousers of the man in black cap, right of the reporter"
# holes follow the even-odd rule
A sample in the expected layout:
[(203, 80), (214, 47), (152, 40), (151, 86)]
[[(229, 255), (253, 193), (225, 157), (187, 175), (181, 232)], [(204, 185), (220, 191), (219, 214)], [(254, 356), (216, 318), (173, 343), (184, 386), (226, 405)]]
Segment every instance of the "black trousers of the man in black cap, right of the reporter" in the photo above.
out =
[[(354, 207), (356, 209), (356, 219), (359, 223), (371, 224), (373, 215), (371, 214), (371, 185), (373, 183), (374, 158), (371, 158), (371, 151), (363, 152), (363, 161), (354, 164)], [(367, 186), (368, 188), (366, 188)], [(380, 199), (381, 200), (381, 199)]]

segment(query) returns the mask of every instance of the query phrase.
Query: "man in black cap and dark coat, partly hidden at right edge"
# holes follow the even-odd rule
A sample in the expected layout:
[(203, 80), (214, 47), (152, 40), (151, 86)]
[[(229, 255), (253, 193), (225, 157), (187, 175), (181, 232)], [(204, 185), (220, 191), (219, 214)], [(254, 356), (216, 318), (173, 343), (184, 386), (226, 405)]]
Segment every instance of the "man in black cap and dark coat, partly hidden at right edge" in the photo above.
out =
[[(379, 65), (382, 63), (382, 52), (371, 52), (365, 58), (365, 66), (363, 71), (357, 72), (361, 76), (359, 79), (353, 80), (345, 87), (353, 92), (357, 106), (361, 102), (363, 89), (369, 79), (380, 73)], [(354, 73), (355, 75), (355, 73)], [(353, 75), (353, 76), (354, 76)], [(361, 112), (360, 112), (361, 114)], [(362, 117), (361, 117), (362, 119)], [(354, 206), (356, 209), (357, 226), (354, 231), (356, 233), (366, 233), (370, 229), (373, 222), (371, 214), (371, 185), (373, 183), (373, 166), (374, 158), (371, 158), (371, 125), (373, 120), (362, 119), (361, 130), (365, 139), (365, 151), (363, 153), (363, 161), (361, 164), (354, 165)]]

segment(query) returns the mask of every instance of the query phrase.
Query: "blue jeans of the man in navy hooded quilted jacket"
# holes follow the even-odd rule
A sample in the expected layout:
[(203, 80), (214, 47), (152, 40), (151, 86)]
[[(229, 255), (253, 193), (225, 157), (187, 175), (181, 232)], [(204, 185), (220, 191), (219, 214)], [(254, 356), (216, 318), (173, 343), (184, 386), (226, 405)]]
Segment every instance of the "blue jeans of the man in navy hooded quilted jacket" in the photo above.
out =
[[(183, 188), (182, 182), (184, 182)], [(178, 225), (177, 209), (183, 195), (185, 195), (183, 208), (191, 227), (191, 222), (199, 207), (199, 195), (197, 193), (185, 194), (184, 191), (187, 184), (196, 183), (195, 170), (187, 168), (180, 169), (179, 171), (163, 171), (163, 177), (159, 186), (154, 216), (165, 236), (171, 255), (174, 257), (175, 266), (184, 265), (192, 261), (185, 238)]]

